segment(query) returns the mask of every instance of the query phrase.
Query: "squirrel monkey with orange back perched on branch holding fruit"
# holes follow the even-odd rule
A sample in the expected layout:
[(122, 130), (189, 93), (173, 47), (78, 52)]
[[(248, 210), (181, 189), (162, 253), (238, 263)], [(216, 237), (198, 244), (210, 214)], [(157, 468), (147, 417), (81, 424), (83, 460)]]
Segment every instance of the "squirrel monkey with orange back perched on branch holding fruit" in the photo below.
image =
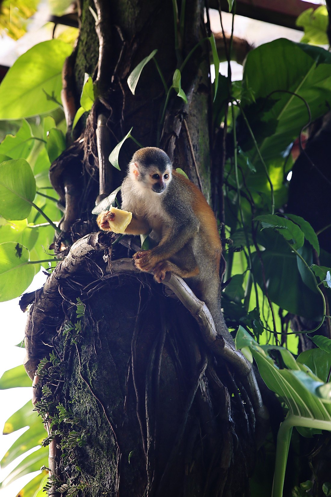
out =
[[(160, 283), (167, 271), (185, 279), (203, 300), (216, 329), (229, 339), (220, 311), (219, 264), (222, 252), (214, 213), (200, 190), (173, 170), (167, 154), (155, 147), (138, 150), (123, 181), (122, 209), (132, 212), (128, 235), (150, 237), (157, 245), (133, 255), (142, 271)], [(97, 223), (112, 231), (114, 213), (102, 212)], [(232, 341), (232, 338), (231, 338)]]

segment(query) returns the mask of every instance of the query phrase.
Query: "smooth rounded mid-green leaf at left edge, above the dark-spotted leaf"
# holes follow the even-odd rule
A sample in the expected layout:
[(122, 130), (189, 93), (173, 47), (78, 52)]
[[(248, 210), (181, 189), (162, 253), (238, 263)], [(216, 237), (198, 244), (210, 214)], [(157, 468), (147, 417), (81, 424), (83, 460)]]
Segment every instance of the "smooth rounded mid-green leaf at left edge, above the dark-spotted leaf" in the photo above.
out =
[(36, 181), (25, 159), (0, 164), (0, 215), (5, 219), (25, 219), (36, 194)]

